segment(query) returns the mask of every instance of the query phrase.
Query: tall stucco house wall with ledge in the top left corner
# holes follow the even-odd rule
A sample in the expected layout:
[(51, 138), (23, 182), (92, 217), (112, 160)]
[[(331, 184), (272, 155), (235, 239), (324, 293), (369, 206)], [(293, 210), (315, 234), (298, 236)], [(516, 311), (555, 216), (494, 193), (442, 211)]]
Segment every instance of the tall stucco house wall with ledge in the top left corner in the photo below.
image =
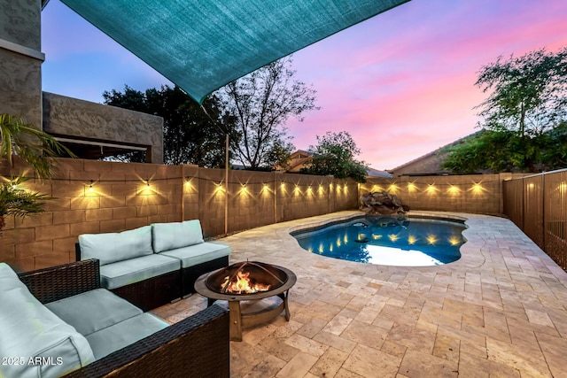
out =
[(0, 113), (42, 126), (40, 0), (0, 0)]

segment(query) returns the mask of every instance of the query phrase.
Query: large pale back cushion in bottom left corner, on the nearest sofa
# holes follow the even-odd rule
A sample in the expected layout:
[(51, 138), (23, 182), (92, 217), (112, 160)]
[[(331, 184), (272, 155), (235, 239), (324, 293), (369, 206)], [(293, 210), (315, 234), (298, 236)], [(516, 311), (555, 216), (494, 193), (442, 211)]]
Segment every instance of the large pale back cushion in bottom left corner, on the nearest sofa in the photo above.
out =
[(87, 339), (39, 302), (4, 263), (0, 288), (0, 356), (17, 358), (0, 364), (0, 376), (55, 377), (95, 360)]

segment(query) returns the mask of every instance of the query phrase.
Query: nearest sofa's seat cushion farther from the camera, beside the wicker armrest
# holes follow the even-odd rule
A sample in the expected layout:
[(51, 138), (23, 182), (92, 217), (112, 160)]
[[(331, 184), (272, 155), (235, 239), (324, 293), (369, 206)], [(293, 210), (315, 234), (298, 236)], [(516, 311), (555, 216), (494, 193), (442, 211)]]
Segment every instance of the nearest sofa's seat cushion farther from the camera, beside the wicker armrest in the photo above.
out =
[(90, 290), (45, 306), (83, 336), (144, 313), (107, 289)]

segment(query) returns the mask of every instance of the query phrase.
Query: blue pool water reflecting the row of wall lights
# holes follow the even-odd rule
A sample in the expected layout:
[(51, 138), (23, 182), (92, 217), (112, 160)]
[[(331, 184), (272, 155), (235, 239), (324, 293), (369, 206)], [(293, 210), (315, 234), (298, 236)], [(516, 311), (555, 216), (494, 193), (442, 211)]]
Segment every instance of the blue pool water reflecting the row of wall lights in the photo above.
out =
[(436, 266), (461, 258), (463, 222), (414, 217), (361, 217), (292, 233), (310, 252), (388, 266)]

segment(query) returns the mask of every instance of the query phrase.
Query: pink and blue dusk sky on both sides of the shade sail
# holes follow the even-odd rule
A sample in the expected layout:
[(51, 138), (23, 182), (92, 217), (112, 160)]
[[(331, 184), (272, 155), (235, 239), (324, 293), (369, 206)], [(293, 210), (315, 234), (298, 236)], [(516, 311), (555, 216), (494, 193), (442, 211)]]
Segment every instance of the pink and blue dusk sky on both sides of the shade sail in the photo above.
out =
[[(172, 86), (58, 0), (42, 12), (43, 90), (102, 103), (105, 90)], [(482, 66), (567, 46), (565, 0), (413, 0), (293, 54), (320, 111), (290, 120), (298, 149), (348, 131), (357, 158), (391, 169), (477, 130)]]

